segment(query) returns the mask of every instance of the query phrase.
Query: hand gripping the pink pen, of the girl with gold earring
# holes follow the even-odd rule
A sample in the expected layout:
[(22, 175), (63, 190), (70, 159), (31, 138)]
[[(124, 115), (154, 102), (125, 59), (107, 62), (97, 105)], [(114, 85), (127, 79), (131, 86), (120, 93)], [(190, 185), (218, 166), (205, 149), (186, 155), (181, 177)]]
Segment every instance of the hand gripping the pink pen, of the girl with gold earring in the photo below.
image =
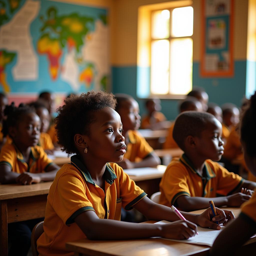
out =
[(162, 228), (161, 237), (168, 239), (189, 239), (197, 232), (196, 224), (188, 220), (178, 220), (159, 226)]

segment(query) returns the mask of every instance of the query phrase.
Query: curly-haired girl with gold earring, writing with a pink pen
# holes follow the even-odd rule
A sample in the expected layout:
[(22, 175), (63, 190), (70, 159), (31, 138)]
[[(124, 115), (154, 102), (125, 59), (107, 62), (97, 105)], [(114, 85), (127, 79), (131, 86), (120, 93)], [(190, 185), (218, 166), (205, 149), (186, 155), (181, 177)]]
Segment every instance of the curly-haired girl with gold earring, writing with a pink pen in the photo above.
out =
[[(197, 229), (192, 222), (220, 229), (209, 220), (210, 208), (201, 215), (182, 213), (187, 221), (178, 220), (169, 207), (147, 198), (115, 163), (122, 160), (126, 147), (115, 104), (113, 94), (91, 91), (70, 96), (58, 109), (59, 144), (66, 153), (77, 155), (71, 156), (70, 164), (62, 166), (50, 187), (44, 233), (37, 240), (40, 256), (73, 255), (65, 248), (66, 242), (86, 237), (94, 240), (154, 236), (187, 239), (194, 236)], [(122, 222), (119, 221), (121, 206), (127, 210), (134, 207), (148, 219), (174, 222), (166, 225)], [(217, 212), (220, 223), (225, 218), (233, 218), (230, 211), (217, 209)]]

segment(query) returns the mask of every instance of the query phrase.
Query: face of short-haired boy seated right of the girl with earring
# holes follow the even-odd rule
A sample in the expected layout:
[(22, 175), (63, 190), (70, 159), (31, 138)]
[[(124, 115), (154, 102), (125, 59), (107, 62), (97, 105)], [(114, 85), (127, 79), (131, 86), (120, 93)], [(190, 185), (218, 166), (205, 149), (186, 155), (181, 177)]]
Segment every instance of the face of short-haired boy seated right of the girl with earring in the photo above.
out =
[(224, 142), (221, 140), (222, 125), (212, 118), (208, 122), (206, 129), (201, 132), (200, 137), (195, 137), (196, 150), (200, 157), (219, 161), (224, 153)]

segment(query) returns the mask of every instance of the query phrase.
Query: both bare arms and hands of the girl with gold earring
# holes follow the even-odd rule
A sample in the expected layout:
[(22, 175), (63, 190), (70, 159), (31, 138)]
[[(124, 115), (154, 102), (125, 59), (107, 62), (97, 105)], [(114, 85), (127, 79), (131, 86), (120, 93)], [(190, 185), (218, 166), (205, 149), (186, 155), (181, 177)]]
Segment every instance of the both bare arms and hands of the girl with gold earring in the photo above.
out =
[[(78, 215), (74, 218), (74, 221), (86, 236), (93, 240), (136, 239), (154, 236), (169, 239), (188, 239), (189, 237), (195, 236), (197, 232), (197, 227), (194, 223), (188, 220), (179, 220), (169, 207), (155, 204), (147, 197), (140, 200), (134, 207), (141, 210), (142, 213), (145, 212), (148, 216), (154, 217), (154, 219), (166, 219), (175, 222), (166, 225), (158, 225), (99, 219), (95, 212), (90, 210)], [(216, 220), (224, 221), (224, 219), (226, 219), (224, 211), (219, 209), (217, 209), (217, 211), (219, 215), (216, 216)], [(185, 218), (193, 220), (197, 224), (217, 229), (219, 225), (207, 219), (206, 215), (208, 212), (209, 210), (206, 210), (202, 215), (183, 214)], [(220, 229), (220, 227), (218, 229)]]

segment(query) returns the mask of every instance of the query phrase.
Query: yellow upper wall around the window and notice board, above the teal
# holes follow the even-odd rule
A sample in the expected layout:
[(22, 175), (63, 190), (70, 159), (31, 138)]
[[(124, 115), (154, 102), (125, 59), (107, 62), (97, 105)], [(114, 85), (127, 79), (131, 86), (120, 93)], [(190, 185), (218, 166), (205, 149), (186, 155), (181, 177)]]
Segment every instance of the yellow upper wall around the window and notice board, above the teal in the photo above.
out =
[[(134, 66), (137, 61), (137, 20), (141, 5), (170, 2), (164, 0), (114, 0), (114, 34), (111, 64)], [(201, 47), (201, 0), (193, 1), (194, 52), (199, 61)], [(234, 0), (234, 60), (246, 60), (248, 0)]]

